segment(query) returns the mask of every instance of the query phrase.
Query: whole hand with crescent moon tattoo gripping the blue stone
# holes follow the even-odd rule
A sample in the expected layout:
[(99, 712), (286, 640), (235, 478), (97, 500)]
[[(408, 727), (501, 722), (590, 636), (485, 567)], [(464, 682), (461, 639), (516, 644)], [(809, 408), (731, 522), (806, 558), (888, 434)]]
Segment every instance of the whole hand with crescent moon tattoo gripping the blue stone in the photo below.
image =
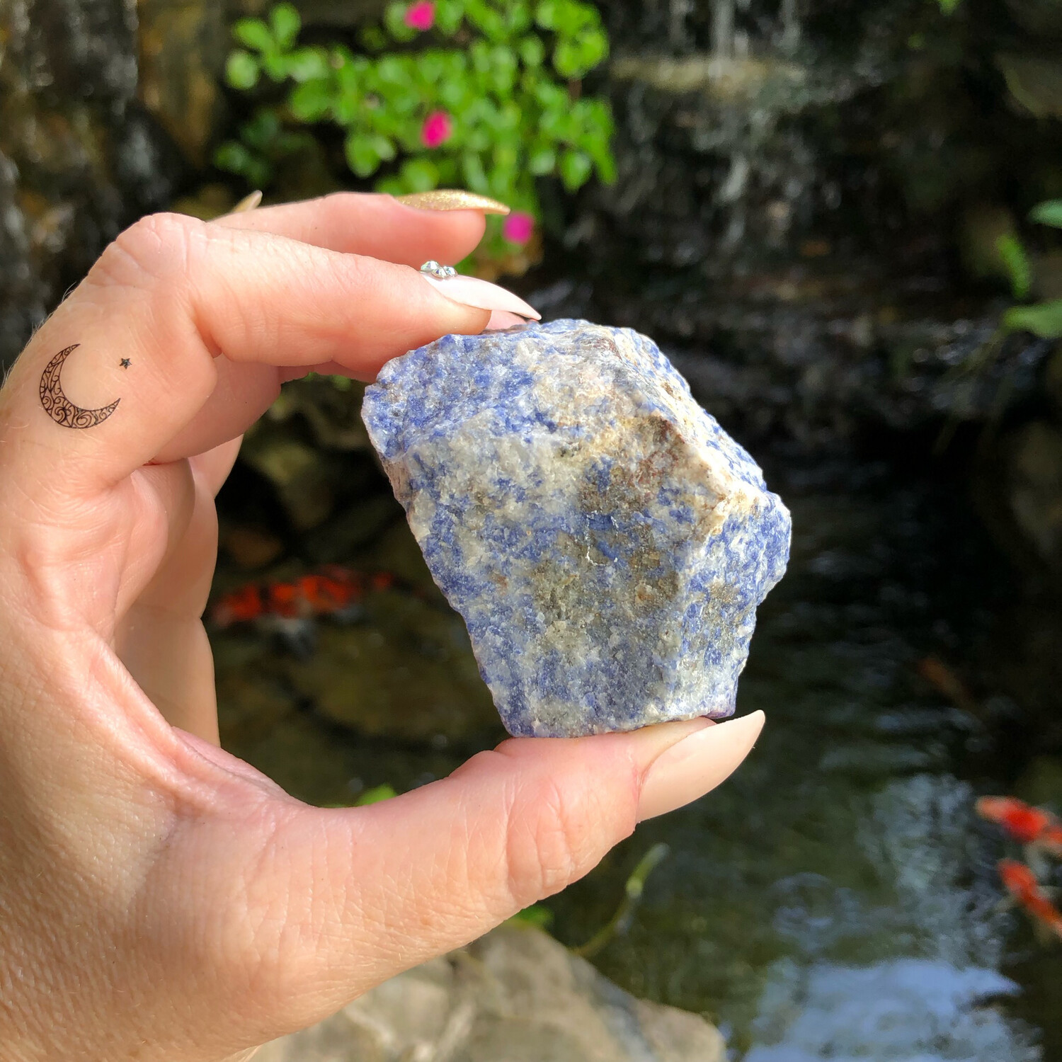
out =
[[(758, 714), (513, 740), (353, 809), (301, 804), (217, 748), (200, 616), (241, 433), (286, 379), (372, 379), (481, 330), (487, 312), (408, 267), (456, 261), (482, 232), (475, 211), (375, 195), (148, 218), (14, 366), (0, 392), (5, 1060), (205, 1062), (309, 1025), (564, 888), (751, 748)], [(41, 399), (72, 344), (66, 395), (118, 401), (76, 430)]]

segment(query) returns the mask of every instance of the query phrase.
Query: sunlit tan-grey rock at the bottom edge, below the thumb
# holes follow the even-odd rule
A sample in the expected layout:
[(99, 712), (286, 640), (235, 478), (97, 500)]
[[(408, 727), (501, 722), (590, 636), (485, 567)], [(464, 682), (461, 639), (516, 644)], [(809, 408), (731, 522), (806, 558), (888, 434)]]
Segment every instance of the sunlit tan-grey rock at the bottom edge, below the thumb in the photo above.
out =
[(722, 1062), (703, 1018), (645, 1003), (537, 929), (400, 974), (256, 1062)]

